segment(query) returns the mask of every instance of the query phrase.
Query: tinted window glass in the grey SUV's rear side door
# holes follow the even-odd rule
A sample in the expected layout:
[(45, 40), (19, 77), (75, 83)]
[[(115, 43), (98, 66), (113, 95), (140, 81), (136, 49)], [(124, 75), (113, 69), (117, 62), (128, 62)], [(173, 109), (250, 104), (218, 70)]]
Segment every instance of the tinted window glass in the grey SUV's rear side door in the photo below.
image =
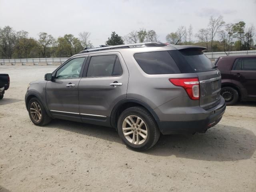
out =
[(92, 56), (87, 70), (87, 77), (118, 76), (122, 74), (122, 67), (118, 56)]

